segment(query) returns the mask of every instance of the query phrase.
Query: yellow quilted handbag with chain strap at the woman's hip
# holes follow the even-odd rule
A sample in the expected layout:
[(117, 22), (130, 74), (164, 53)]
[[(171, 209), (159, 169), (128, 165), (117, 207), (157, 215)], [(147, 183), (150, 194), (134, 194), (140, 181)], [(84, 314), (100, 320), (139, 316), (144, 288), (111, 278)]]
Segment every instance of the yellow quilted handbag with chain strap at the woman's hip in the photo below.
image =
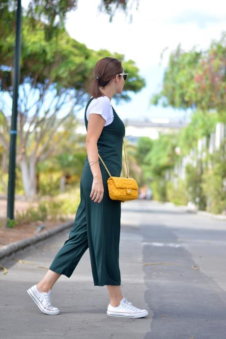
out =
[(110, 178), (108, 178), (108, 191), (109, 197), (113, 200), (120, 200), (122, 202), (126, 200), (134, 200), (138, 198), (138, 183), (134, 178), (130, 178), (128, 174), (128, 166), (126, 160), (126, 151), (125, 151), (125, 144), (123, 140), (123, 147), (125, 152), (125, 161), (126, 161), (126, 170), (127, 170), (127, 177), (119, 177), (119, 176), (112, 176), (109, 170), (107, 169), (104, 161), (102, 160), (101, 156), (98, 154), (101, 162), (103, 163), (105, 169), (107, 170)]

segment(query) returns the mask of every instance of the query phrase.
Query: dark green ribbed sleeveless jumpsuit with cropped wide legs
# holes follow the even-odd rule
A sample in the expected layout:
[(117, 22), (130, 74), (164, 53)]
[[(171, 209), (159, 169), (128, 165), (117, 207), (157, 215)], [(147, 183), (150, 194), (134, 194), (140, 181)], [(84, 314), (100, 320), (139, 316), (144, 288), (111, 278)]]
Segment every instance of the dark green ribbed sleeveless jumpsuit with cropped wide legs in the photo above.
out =
[[(85, 108), (85, 127), (88, 121)], [(98, 152), (111, 175), (120, 176), (122, 169), (122, 144), (125, 125), (113, 109), (113, 121), (104, 126), (97, 141)], [(93, 159), (90, 159), (93, 160)], [(103, 178), (104, 196), (100, 203), (90, 198), (93, 175), (86, 154), (80, 181), (80, 204), (69, 238), (64, 242), (49, 269), (67, 276), (72, 275), (82, 255), (89, 248), (94, 286), (120, 285), (119, 238), (121, 201), (109, 197), (109, 174), (99, 160)]]

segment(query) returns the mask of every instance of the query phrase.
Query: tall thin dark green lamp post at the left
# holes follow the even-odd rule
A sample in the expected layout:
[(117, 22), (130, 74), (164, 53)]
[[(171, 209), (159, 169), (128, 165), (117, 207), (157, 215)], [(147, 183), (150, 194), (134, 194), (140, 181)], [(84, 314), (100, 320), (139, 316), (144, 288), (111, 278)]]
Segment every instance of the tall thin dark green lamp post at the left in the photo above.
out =
[(10, 149), (9, 149), (9, 177), (8, 177), (8, 201), (7, 201), (7, 222), (14, 219), (14, 195), (15, 195), (15, 166), (16, 166), (16, 139), (17, 139), (17, 101), (18, 86), (20, 82), (20, 56), (21, 56), (21, 0), (17, 1), (16, 16), (16, 45), (14, 53), (13, 69), (13, 105), (10, 129)]

